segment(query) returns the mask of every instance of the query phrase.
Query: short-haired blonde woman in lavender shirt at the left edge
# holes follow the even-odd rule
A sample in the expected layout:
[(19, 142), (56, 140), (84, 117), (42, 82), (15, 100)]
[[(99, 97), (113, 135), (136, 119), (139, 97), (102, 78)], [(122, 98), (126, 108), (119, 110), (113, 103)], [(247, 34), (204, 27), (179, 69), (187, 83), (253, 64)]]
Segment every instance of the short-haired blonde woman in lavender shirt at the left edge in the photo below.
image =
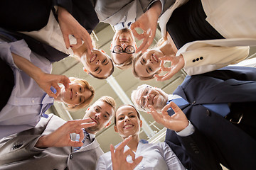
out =
[(0, 57), (10, 69), (9, 72), (2, 70), (3, 77), (12, 77), (14, 81), (14, 84), (1, 81), (1, 84), (10, 86), (11, 93), (1, 101), (0, 137), (33, 128), (42, 116), (46, 116), (54, 98), (65, 103), (70, 110), (89, 105), (95, 91), (87, 81), (50, 74), (52, 64), (49, 60), (32, 51), (25, 40), (14, 39), (0, 33)]

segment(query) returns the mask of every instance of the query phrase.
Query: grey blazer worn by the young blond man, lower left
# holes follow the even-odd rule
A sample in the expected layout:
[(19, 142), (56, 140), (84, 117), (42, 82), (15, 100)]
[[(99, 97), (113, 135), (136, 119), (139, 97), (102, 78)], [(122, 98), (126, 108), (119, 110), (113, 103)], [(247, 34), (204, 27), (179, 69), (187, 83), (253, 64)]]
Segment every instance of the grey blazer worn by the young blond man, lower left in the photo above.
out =
[[(47, 119), (41, 118), (35, 128), (1, 139), (0, 169), (95, 169), (97, 159), (103, 154), (96, 140), (77, 152), (73, 152), (73, 147), (34, 147), (41, 135), (53, 132), (64, 123), (65, 120), (50, 114)], [(71, 139), (74, 137), (71, 135)]]

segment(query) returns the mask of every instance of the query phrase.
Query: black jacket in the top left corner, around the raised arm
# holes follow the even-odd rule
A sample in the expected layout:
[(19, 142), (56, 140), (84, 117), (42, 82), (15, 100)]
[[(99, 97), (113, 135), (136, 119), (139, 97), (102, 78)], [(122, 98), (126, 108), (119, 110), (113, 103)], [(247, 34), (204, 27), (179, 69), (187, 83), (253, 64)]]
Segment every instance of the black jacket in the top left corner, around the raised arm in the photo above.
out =
[[(80, 0), (26, 0), (1, 1), (0, 26), (18, 31), (39, 30), (46, 26), (50, 10), (54, 6), (65, 8), (87, 31), (91, 33), (99, 20), (90, 1)], [(55, 16), (57, 18), (57, 16)], [(57, 18), (58, 19), (58, 18)]]

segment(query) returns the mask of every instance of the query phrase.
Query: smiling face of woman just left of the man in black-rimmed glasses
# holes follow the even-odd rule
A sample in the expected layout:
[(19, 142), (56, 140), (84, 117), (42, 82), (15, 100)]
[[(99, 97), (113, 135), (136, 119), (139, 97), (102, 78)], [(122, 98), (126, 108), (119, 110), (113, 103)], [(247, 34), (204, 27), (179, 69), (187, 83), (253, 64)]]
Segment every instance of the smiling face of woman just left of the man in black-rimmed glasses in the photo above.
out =
[(97, 49), (92, 50), (91, 55), (85, 52), (81, 57), (81, 62), (90, 74), (100, 79), (110, 77), (114, 67), (110, 57)]

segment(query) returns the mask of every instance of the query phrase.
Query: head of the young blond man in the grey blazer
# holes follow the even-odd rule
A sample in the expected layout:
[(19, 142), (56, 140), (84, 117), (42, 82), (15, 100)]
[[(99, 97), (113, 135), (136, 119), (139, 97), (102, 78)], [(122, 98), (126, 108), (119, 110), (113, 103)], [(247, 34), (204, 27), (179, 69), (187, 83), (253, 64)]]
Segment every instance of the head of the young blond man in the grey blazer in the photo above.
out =
[(92, 106), (87, 108), (84, 118), (90, 118), (92, 122), (96, 123), (96, 125), (86, 128), (85, 130), (95, 134), (103, 128), (107, 128), (111, 124), (110, 120), (114, 115), (115, 107), (116, 103), (114, 98), (110, 96), (102, 96), (95, 101)]

